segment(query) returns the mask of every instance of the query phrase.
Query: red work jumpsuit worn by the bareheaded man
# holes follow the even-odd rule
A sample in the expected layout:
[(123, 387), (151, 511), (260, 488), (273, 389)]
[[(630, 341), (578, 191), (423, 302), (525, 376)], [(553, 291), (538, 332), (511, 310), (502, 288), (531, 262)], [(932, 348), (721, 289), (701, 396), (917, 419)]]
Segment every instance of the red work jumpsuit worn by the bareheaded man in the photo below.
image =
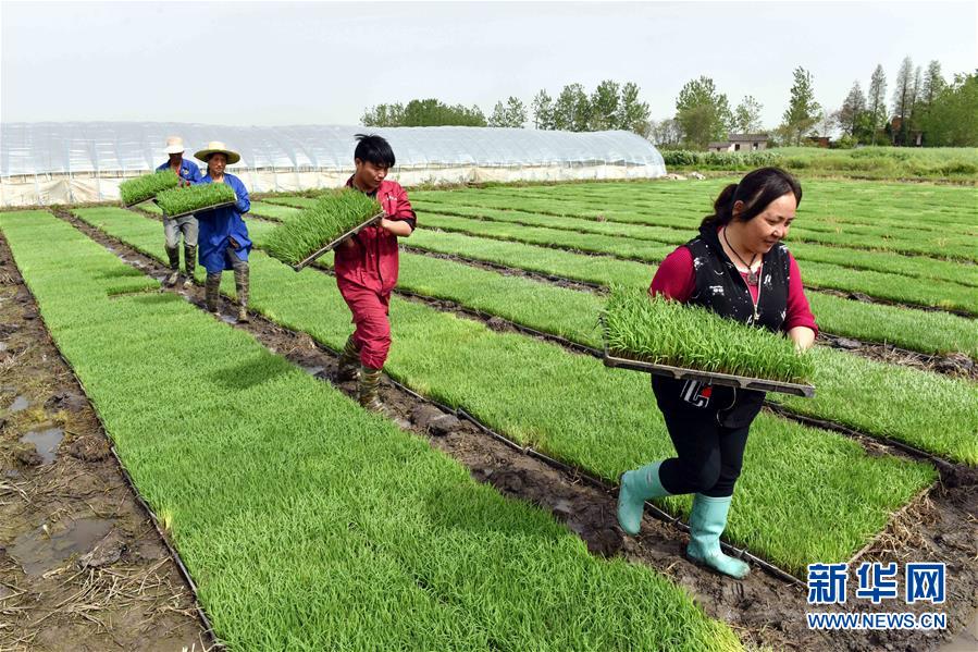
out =
[[(351, 187), (352, 182), (350, 176), (346, 185)], [(388, 220), (404, 220), (413, 230), (418, 218), (400, 184), (382, 181), (376, 199)], [(387, 312), (391, 291), (397, 284), (397, 236), (375, 225), (362, 230), (352, 242), (354, 247), (336, 249), (336, 285), (354, 313), (354, 342), (360, 348), (360, 362), (381, 369), (391, 349)]]

